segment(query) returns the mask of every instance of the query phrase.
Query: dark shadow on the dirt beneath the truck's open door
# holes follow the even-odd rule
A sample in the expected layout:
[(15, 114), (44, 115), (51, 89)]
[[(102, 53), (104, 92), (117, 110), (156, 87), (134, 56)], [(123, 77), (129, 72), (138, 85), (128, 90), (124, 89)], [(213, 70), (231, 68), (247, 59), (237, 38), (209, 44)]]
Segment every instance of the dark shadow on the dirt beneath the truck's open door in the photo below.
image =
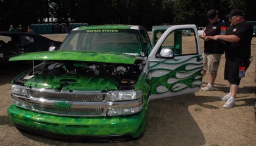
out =
[(141, 139), (141, 145), (204, 145), (204, 134), (188, 111), (188, 106), (197, 104), (216, 109), (218, 107), (204, 105), (216, 99), (216, 97), (195, 97), (194, 94), (188, 94), (151, 100), (146, 133)]

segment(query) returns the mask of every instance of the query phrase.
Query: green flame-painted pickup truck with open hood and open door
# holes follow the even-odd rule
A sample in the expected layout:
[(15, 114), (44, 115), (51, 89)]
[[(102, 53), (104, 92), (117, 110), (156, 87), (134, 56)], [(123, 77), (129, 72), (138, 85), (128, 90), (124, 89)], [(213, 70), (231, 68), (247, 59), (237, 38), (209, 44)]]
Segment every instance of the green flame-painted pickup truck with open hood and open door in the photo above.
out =
[[(12, 57), (43, 63), (14, 78), (10, 121), (25, 131), (71, 141), (138, 139), (149, 100), (199, 91), (202, 54), (196, 30), (195, 25), (153, 27), (152, 49), (141, 26), (79, 27), (56, 51)], [(187, 31), (190, 38), (183, 36)]]

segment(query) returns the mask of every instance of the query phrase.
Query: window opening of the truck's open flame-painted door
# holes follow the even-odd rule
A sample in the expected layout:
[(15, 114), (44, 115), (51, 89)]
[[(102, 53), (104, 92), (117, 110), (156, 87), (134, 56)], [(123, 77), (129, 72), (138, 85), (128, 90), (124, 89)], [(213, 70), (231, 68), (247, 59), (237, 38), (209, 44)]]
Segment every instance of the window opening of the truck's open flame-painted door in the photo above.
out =
[(160, 47), (172, 49), (175, 56), (197, 54), (196, 36), (193, 29), (179, 29), (169, 33)]

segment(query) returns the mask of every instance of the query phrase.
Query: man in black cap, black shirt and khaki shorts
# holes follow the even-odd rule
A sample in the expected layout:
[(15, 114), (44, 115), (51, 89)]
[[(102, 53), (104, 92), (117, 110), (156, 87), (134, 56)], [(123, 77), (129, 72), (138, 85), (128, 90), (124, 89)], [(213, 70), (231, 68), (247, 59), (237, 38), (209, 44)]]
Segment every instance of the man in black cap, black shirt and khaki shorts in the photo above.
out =
[[(216, 10), (209, 10), (207, 12), (207, 19), (209, 24), (205, 27), (204, 34), (201, 36), (202, 39), (205, 36), (221, 35), (221, 27), (224, 26), (224, 21), (218, 18), (218, 12)], [(219, 61), (221, 60), (221, 55), (224, 54), (224, 43), (215, 40), (205, 40), (204, 41), (204, 53), (203, 57), (203, 74), (210, 72), (210, 81), (207, 86), (202, 88), (202, 91), (213, 91), (214, 82), (217, 76), (217, 71), (219, 68)]]

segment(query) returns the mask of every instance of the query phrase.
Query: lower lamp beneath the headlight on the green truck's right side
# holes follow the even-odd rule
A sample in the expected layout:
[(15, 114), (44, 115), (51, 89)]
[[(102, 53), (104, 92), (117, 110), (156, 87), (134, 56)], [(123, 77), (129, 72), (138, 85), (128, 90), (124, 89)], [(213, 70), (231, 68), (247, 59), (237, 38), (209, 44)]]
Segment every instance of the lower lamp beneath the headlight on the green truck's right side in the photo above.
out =
[(111, 108), (107, 111), (107, 116), (121, 116), (121, 115), (129, 115), (140, 112), (142, 109), (142, 105), (136, 107), (126, 107), (126, 108)]

